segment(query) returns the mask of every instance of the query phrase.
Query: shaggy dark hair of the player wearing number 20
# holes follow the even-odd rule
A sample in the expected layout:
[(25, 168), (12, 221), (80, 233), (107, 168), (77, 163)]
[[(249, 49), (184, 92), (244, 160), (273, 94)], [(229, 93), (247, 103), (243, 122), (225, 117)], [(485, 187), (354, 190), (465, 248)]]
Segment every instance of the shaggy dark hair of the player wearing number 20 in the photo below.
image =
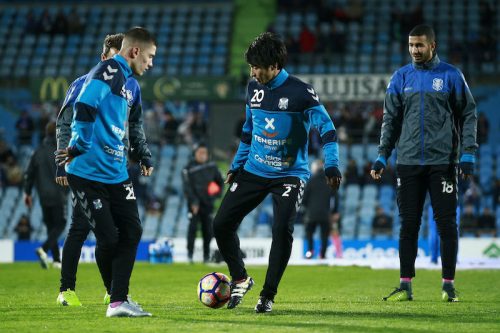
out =
[(272, 32), (261, 33), (245, 52), (245, 60), (248, 64), (262, 68), (277, 66), (281, 69), (285, 66), (286, 59), (285, 43)]

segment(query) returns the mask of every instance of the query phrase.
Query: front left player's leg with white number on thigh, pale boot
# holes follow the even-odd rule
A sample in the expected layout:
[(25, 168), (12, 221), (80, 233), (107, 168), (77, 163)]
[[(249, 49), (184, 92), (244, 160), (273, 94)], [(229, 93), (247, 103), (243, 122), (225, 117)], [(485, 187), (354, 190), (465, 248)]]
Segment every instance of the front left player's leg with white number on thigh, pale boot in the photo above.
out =
[[(132, 182), (107, 185), (110, 209), (118, 229), (118, 244), (112, 263), (112, 283), (108, 317), (121, 316), (134, 309), (133, 316), (151, 316), (131, 302), (128, 295), (130, 276), (134, 268), (137, 247), (142, 236), (142, 225)], [(123, 308), (123, 309), (121, 309)]]

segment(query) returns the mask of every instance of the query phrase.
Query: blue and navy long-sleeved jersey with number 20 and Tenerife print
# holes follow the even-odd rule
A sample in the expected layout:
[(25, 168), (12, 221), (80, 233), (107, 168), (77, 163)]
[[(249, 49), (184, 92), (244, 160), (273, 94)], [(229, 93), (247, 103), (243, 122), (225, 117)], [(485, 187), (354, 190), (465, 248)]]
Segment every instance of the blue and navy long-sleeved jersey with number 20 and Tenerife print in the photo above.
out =
[(308, 140), (311, 126), (321, 136), (325, 169), (338, 167), (335, 126), (314, 89), (285, 69), (269, 83), (248, 84), (246, 120), (231, 170), (266, 178), (309, 178)]

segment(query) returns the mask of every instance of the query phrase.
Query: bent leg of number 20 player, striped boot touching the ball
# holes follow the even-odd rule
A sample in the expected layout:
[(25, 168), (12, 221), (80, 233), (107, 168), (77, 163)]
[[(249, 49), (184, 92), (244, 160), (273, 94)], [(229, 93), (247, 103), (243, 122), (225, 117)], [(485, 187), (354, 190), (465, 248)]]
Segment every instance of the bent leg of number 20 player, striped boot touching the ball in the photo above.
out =
[(240, 239), (236, 231), (243, 218), (266, 197), (268, 181), (241, 171), (226, 192), (214, 218), (215, 240), (232, 278), (229, 309), (238, 306), (243, 296), (253, 286), (253, 280), (248, 276), (243, 263)]

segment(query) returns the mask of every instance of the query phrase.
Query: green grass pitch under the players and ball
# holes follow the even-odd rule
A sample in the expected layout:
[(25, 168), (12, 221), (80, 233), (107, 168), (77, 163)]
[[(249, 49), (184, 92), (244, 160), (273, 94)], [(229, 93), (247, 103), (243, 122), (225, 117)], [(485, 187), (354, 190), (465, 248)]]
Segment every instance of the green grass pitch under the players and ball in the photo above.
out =
[(500, 332), (500, 271), (457, 273), (460, 303), (440, 300), (440, 272), (417, 272), (415, 300), (382, 302), (398, 284), (395, 270), (291, 266), (273, 312), (254, 313), (265, 267), (249, 267), (256, 285), (235, 310), (209, 309), (196, 298), (198, 280), (225, 266), (138, 263), (130, 294), (151, 318), (106, 318), (97, 267), (82, 264), (81, 308), (56, 305), (59, 272), (36, 263), (0, 265), (0, 332)]

